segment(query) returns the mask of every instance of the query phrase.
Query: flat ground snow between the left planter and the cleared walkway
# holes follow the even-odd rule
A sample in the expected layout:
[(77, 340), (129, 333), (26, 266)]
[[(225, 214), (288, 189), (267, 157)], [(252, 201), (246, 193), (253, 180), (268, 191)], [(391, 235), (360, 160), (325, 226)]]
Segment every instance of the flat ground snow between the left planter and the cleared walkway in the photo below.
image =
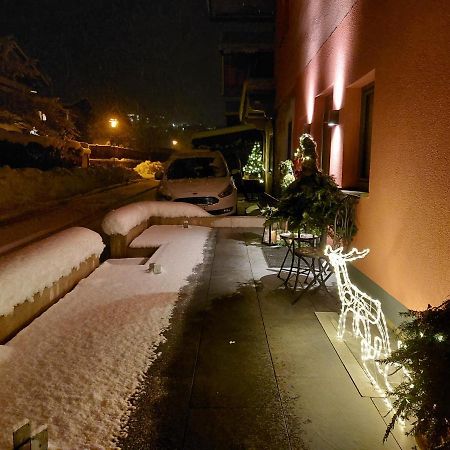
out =
[(163, 243), (150, 259), (161, 274), (135, 259), (108, 260), (0, 346), (0, 448), (11, 448), (24, 418), (48, 424), (51, 448), (115, 447), (209, 232), (151, 227), (150, 243), (158, 235)]

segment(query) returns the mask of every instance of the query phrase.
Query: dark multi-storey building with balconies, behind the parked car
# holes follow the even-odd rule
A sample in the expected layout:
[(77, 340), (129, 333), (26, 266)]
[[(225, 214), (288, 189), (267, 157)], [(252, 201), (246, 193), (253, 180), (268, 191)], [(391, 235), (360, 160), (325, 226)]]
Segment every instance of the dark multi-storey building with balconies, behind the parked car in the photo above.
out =
[(199, 133), (193, 144), (227, 148), (224, 154), (229, 162), (239, 154), (245, 164), (255, 140), (259, 141), (264, 188), (269, 191), (273, 171), (275, 1), (208, 0), (207, 5), (210, 19), (222, 30), (219, 51), (227, 127)]

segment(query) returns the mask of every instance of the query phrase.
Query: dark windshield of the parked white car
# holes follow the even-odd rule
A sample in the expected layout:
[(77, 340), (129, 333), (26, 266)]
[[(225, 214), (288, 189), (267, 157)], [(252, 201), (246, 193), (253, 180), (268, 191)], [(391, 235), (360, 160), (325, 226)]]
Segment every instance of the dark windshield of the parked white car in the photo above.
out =
[(167, 169), (168, 180), (225, 176), (227, 176), (227, 169), (223, 160), (219, 157), (175, 159)]

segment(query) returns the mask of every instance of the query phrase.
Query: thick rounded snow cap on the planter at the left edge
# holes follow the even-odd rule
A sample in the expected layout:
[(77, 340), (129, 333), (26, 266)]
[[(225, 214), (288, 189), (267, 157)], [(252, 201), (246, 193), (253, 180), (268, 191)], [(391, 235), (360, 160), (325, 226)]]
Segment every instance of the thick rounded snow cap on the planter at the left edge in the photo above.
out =
[(100, 235), (87, 228), (61, 231), (0, 258), (0, 315), (31, 299), (103, 251)]

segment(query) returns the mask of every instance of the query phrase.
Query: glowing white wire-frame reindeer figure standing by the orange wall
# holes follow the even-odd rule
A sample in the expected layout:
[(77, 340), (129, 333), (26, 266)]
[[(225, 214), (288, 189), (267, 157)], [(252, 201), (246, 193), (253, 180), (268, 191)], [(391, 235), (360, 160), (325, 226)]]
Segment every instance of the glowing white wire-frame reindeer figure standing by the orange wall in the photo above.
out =
[[(355, 248), (348, 253), (344, 253), (342, 247), (333, 250), (329, 245), (326, 246), (324, 251), (334, 269), (341, 300), (338, 337), (344, 336), (347, 314), (351, 312), (353, 314), (353, 335), (361, 338), (361, 358), (366, 371), (369, 372), (366, 361), (374, 361), (378, 372), (384, 376), (384, 381), (389, 386), (386, 368), (382, 370), (378, 363), (380, 358), (386, 358), (391, 354), (386, 319), (381, 309), (381, 302), (371, 298), (352, 284), (347, 271), (347, 261), (364, 258), (368, 253), (369, 249), (358, 251)], [(375, 335), (372, 335), (372, 329), (375, 329)], [(377, 384), (370, 373), (368, 375)]]

